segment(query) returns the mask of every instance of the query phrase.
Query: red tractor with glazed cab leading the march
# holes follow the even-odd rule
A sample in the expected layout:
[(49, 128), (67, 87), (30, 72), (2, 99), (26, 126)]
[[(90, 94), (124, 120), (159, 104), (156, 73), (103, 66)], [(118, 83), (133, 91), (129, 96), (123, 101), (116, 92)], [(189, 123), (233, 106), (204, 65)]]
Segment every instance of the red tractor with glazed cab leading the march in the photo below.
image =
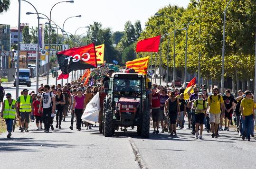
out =
[(137, 126), (137, 134), (149, 137), (150, 112), (145, 77), (137, 73), (113, 73), (104, 99), (102, 129), (105, 137), (119, 127)]

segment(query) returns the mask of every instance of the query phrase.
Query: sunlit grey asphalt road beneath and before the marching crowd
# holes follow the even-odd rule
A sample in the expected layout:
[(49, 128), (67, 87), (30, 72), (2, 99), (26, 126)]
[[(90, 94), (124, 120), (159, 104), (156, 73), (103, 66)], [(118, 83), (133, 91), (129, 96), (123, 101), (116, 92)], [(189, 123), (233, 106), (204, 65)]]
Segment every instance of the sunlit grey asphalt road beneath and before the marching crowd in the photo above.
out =
[[(35, 83), (28, 89), (35, 89)], [(6, 92), (15, 94), (15, 88)], [(144, 139), (134, 128), (106, 138), (98, 132), (98, 126), (92, 130), (82, 127), (81, 132), (70, 130), (70, 114), (66, 121), (62, 129), (50, 133), (36, 130), (31, 122), (28, 133), (16, 130), (11, 139), (6, 133), (0, 134), (0, 169), (256, 168), (256, 139), (243, 141), (234, 130), (220, 131), (218, 138), (204, 131), (203, 140), (198, 140), (185, 124), (184, 129), (177, 130), (177, 137), (152, 134), (151, 129), (150, 137)]]

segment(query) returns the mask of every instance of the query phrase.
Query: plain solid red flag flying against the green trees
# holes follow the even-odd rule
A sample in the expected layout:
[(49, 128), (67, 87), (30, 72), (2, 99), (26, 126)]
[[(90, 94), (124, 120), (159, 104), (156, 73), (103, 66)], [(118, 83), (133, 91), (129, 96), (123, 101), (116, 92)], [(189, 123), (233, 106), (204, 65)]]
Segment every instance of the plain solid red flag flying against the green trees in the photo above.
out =
[(161, 36), (142, 39), (137, 42), (136, 52), (158, 52)]

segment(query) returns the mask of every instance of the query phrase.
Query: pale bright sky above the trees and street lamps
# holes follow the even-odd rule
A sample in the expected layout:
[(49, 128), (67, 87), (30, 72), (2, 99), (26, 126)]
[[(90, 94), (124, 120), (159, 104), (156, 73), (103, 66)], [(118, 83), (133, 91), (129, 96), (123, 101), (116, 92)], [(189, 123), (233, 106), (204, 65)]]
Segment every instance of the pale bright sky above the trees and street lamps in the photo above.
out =
[[(50, 9), (61, 0), (27, 0), (38, 10), (49, 17)], [(112, 31), (123, 31), (124, 23), (130, 20), (134, 23), (140, 20), (142, 29), (149, 17), (158, 9), (169, 4), (187, 8), (190, 0), (74, 0), (74, 3), (59, 3), (53, 9), (51, 18), (62, 27), (66, 18), (82, 15), (81, 18), (70, 18), (66, 21), (64, 30), (72, 34), (78, 27), (86, 27), (93, 21), (101, 22), (102, 27), (111, 27)], [(29, 27), (37, 27), (37, 15), (26, 15), (26, 12), (35, 12), (35, 9), (25, 1), (21, 1), (21, 23), (28, 23)], [(0, 24), (8, 24), (11, 27), (18, 26), (19, 3), (18, 0), (10, 0), (7, 12), (0, 14)], [(47, 20), (40, 19), (40, 23)], [(77, 30), (76, 35), (86, 32), (86, 28)]]

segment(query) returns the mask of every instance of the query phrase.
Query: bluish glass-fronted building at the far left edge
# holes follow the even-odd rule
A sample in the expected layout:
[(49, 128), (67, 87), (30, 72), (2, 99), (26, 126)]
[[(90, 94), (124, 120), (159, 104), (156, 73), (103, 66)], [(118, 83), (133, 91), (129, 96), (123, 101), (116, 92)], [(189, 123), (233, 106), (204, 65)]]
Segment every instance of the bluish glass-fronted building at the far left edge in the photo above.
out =
[(0, 24), (0, 50), (10, 51), (10, 26)]

